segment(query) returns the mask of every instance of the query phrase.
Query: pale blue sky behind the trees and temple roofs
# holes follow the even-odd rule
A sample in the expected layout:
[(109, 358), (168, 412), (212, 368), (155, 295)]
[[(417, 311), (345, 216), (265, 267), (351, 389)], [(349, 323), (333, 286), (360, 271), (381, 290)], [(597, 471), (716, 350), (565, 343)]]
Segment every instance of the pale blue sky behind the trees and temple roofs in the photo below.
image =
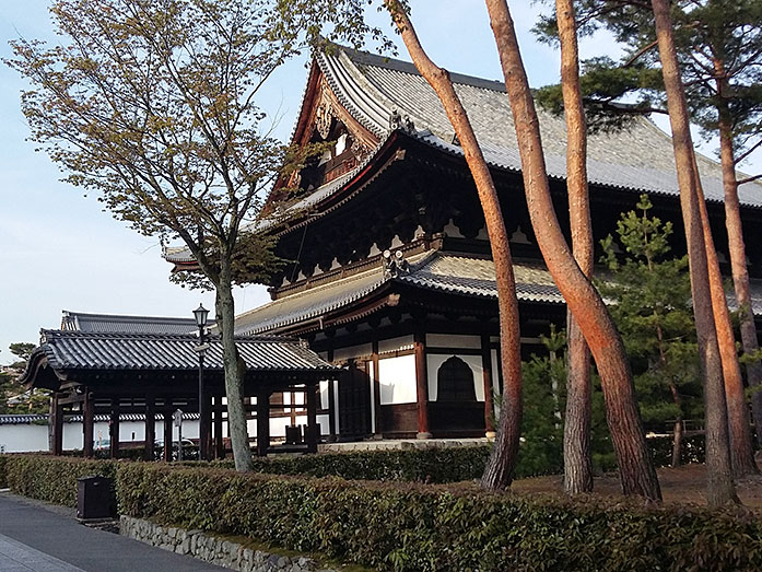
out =
[[(413, 23), (432, 58), (452, 71), (501, 79), (482, 0), (415, 0)], [(529, 34), (538, 9), (511, 2), (532, 86), (558, 81), (554, 49)], [(55, 39), (45, 0), (0, 0), (0, 57), (8, 42)], [(386, 25), (384, 14), (373, 16)], [(587, 39), (582, 56), (616, 55), (607, 37)], [(409, 59), (402, 47), (400, 58)], [(260, 104), (278, 117), (277, 133), (288, 139), (306, 80), (305, 59), (284, 66), (269, 80)], [(102, 212), (95, 197), (59, 182), (45, 153), (26, 141), (20, 112), (17, 74), (0, 66), (0, 363), (12, 361), (8, 346), (37, 342), (40, 328), (60, 325), (62, 310), (92, 313), (190, 316), (199, 301), (213, 308), (213, 296), (168, 281), (169, 265), (159, 242), (141, 236)], [(762, 161), (757, 160), (757, 165)], [(236, 293), (237, 312), (269, 300), (262, 287)]]

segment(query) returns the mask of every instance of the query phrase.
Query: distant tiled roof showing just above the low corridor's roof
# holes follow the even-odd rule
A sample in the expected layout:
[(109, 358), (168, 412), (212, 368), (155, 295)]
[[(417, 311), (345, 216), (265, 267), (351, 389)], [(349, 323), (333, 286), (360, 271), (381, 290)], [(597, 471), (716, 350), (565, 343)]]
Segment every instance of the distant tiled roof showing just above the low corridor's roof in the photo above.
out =
[(121, 316), (65, 310), (61, 329), (101, 334), (192, 334), (198, 327), (192, 317)]

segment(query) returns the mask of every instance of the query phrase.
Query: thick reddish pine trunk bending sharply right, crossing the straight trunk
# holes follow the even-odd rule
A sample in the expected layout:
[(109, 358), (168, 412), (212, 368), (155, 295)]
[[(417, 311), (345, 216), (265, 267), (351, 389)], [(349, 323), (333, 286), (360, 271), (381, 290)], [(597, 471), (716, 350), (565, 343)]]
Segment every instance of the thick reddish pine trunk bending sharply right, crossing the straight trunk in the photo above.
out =
[(542, 257), (595, 357), (622, 491), (660, 500), (622, 339), (598, 291), (582, 272), (555, 217), (535, 102), (505, 0), (486, 0), (516, 126), (524, 189)]

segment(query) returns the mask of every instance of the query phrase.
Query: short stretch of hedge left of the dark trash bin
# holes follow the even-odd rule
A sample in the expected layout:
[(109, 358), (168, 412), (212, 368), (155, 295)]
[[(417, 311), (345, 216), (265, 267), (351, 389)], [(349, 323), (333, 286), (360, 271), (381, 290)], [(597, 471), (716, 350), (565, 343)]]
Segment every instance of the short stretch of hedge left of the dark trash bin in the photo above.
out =
[(50, 455), (9, 455), (4, 459), (5, 482), (13, 492), (65, 506), (77, 506), (78, 478), (99, 475), (115, 480), (116, 477), (117, 463), (112, 460)]

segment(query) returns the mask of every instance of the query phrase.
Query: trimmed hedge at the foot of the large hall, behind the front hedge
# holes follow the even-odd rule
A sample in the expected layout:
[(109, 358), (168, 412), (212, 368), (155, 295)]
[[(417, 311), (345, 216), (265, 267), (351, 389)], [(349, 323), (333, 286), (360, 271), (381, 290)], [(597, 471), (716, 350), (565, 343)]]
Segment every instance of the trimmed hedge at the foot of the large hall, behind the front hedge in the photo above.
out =
[[(482, 445), (254, 457), (254, 470), (269, 475), (341, 477), (348, 480), (458, 482), (481, 478), (490, 451), (490, 446)], [(213, 465), (234, 467), (232, 460)]]

